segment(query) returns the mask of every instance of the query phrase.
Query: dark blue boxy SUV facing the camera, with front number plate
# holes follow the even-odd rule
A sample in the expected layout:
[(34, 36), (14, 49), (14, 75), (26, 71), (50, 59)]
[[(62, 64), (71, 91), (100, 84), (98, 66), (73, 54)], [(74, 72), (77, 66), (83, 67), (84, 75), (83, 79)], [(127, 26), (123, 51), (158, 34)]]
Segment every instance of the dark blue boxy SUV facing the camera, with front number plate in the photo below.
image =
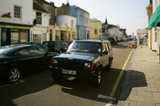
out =
[(55, 81), (63, 76), (87, 76), (99, 86), (102, 70), (110, 70), (112, 60), (108, 40), (76, 40), (67, 52), (52, 58), (50, 70)]

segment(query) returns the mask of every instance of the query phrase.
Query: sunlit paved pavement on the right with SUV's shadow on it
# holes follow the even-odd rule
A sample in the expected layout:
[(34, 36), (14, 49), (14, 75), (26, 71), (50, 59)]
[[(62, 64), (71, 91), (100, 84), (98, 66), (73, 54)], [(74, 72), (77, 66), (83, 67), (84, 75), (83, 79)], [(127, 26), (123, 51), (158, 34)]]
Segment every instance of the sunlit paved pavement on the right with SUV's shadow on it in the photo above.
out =
[(160, 106), (159, 55), (140, 45), (128, 64), (117, 106)]

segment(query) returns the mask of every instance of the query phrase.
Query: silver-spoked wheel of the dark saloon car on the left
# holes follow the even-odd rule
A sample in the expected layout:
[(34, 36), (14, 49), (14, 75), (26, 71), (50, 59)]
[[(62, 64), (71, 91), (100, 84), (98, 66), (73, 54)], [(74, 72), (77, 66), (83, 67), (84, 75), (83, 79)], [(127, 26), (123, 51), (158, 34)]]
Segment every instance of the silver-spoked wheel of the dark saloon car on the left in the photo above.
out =
[(10, 69), (8, 73), (8, 80), (11, 83), (17, 82), (20, 79), (21, 73), (17, 67), (13, 67)]

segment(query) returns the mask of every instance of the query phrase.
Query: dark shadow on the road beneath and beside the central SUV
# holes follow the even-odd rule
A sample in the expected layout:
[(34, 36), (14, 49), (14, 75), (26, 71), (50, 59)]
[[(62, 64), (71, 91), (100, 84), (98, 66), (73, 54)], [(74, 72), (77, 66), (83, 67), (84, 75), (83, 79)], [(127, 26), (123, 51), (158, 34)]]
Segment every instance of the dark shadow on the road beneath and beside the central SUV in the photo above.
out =
[[(120, 69), (112, 69), (111, 71), (104, 71), (102, 76), (102, 83), (99, 88), (93, 85), (92, 80), (88, 78), (77, 78), (71, 81), (59, 82), (62, 86), (62, 91), (74, 96), (78, 96), (85, 99), (107, 103), (110, 100), (107, 98), (99, 98), (98, 95), (110, 96), (112, 88), (120, 73)], [(126, 71), (124, 72), (124, 74)], [(122, 78), (123, 80), (123, 78)], [(120, 88), (118, 88), (120, 89)], [(120, 92), (117, 92), (120, 93)]]

